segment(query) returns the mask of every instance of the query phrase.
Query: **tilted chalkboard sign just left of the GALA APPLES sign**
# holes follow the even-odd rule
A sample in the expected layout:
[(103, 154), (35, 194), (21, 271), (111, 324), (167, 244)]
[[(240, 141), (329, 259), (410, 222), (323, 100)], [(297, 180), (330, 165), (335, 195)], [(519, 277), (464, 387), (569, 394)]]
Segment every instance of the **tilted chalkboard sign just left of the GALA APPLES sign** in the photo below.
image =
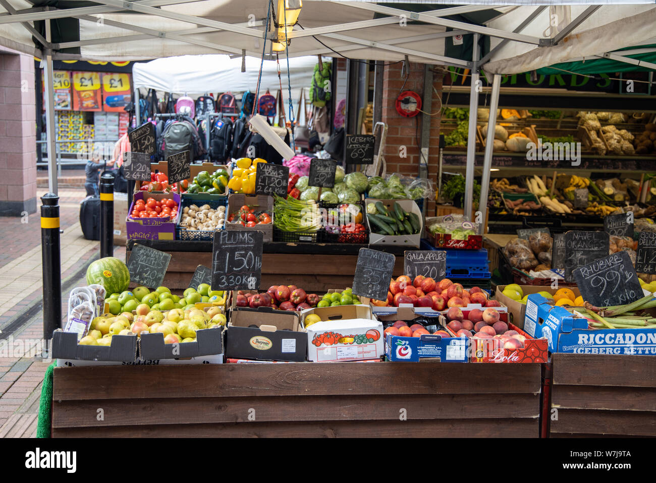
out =
[(353, 293), (363, 297), (385, 300), (394, 272), (394, 254), (360, 248)]

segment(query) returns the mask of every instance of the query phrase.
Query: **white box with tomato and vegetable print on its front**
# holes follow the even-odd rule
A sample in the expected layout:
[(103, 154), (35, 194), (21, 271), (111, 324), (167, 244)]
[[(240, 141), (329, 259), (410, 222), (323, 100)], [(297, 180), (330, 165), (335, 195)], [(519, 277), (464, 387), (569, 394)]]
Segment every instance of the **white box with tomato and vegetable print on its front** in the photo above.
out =
[(308, 361), (342, 362), (378, 359), (384, 354), (382, 323), (366, 305), (322, 307), (304, 310), (321, 317), (308, 331)]

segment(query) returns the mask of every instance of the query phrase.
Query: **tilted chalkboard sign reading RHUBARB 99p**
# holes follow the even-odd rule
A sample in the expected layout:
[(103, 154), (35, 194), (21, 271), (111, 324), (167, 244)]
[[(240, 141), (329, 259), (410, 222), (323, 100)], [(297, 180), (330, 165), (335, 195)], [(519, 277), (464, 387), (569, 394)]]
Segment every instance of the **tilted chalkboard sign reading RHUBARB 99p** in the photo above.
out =
[(630, 304), (644, 296), (625, 251), (594, 260), (573, 273), (583, 300), (597, 307)]

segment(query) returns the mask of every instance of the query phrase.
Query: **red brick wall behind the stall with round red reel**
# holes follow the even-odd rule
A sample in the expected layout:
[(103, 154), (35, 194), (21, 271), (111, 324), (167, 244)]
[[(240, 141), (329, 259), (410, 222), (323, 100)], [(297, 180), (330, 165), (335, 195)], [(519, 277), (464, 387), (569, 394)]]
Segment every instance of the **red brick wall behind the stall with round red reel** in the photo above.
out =
[[(408, 176), (419, 175), (419, 143), (422, 129), (422, 114), (414, 118), (405, 118), (396, 112), (396, 98), (403, 91), (415, 91), (424, 96), (424, 64), (410, 64), (410, 74), (405, 81), (401, 77), (402, 63), (385, 66), (382, 81), (382, 122), (388, 126), (385, 161), (387, 172), (399, 172)], [(403, 82), (405, 81), (405, 85)], [(433, 106), (432, 112), (438, 111), (442, 93), (442, 76), (433, 74)], [(432, 90), (430, 86), (429, 89)], [(422, 107), (422, 110), (425, 110)], [(440, 141), (440, 114), (430, 118), (430, 146), (428, 147), (428, 178), (437, 186), (438, 147)], [(405, 158), (400, 157), (400, 147), (405, 146)], [(427, 216), (432, 216), (435, 210), (434, 200), (428, 203)]]

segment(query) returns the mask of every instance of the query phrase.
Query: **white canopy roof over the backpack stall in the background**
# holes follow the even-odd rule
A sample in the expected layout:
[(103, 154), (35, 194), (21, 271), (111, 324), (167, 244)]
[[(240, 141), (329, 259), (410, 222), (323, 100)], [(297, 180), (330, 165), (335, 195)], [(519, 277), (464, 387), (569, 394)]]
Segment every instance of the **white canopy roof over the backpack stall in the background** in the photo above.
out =
[[(293, 90), (310, 87), (315, 56), (289, 59), (289, 77)], [(280, 89), (277, 62), (264, 60), (260, 92)], [(287, 58), (280, 56), (283, 90), (287, 93)], [(183, 55), (134, 64), (134, 87), (146, 87), (173, 93), (203, 93), (223, 91), (255, 91), (260, 59), (246, 57), (246, 72), (241, 72), (241, 57), (228, 55)]]

